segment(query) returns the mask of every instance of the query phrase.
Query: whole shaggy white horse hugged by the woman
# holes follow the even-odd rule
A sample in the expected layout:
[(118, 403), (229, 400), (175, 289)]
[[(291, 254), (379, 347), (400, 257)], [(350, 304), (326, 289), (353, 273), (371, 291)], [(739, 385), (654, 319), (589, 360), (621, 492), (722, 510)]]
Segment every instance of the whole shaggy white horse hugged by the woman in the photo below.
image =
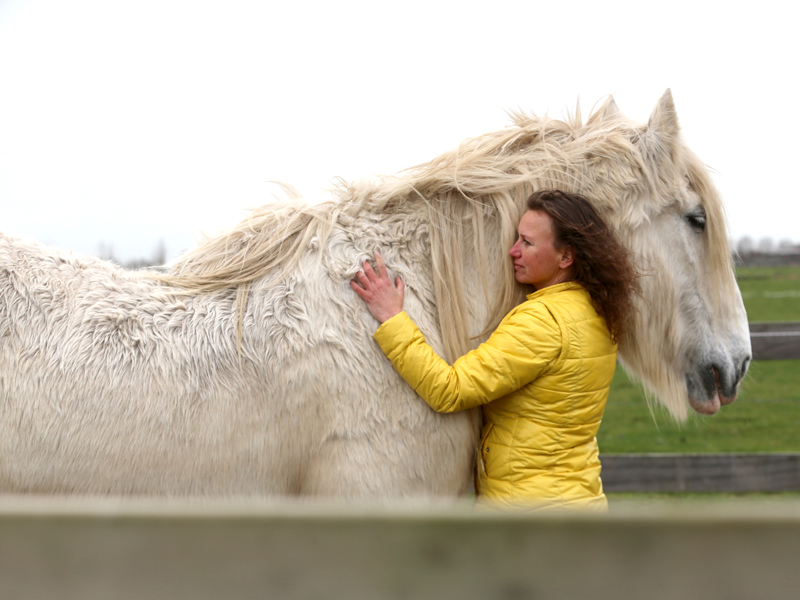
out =
[(621, 358), (678, 418), (750, 359), (723, 208), (672, 97), (647, 125), (504, 130), (319, 206), (264, 207), (166, 275), (0, 236), (0, 492), (455, 496), (479, 417), (439, 415), (386, 361), (349, 281), (379, 247), (452, 360), (521, 298), (506, 252), (536, 189), (590, 198), (642, 296)]

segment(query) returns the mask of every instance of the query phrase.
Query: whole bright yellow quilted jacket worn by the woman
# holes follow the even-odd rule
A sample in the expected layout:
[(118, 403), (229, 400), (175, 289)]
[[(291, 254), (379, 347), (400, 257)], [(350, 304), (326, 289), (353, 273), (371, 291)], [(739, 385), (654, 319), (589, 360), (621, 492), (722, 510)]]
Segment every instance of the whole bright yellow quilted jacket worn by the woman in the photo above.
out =
[(483, 407), (480, 503), (607, 508), (595, 436), (617, 349), (580, 284), (530, 294), (452, 367), (404, 312), (383, 323), (375, 339), (434, 410)]

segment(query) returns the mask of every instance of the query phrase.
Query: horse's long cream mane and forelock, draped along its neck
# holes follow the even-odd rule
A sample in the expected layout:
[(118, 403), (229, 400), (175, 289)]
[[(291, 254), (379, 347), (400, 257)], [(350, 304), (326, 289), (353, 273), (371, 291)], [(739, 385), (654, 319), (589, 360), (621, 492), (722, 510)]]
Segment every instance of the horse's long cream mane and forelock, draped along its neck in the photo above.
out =
[[(522, 112), (510, 116), (510, 126), (468, 139), (397, 176), (340, 181), (332, 201), (306, 205), (295, 198), (255, 209), (234, 229), (184, 254), (160, 279), (189, 293), (238, 287), (243, 309), (252, 282), (266, 275), (277, 281), (291, 272), (306, 249), (312, 243), (323, 245), (337, 224), (344, 226), (364, 212), (422, 210), (430, 224), (438, 322), (446, 358), (453, 360), (472, 347), (460, 268), (464, 223), (471, 223), (474, 255), (482, 263), (478, 270), (487, 289), (485, 233), (490, 226), (499, 227), (501, 240), (510, 245), (525, 199), (533, 191), (582, 194), (615, 230), (630, 231), (674, 202), (674, 190), (687, 169), (708, 213), (710, 256), (719, 267), (714, 272), (730, 270), (721, 201), (704, 165), (676, 135), (653, 135), (647, 126), (624, 118), (611, 99), (585, 123), (579, 108), (564, 120)], [(500, 251), (505, 250), (504, 245)], [(510, 261), (504, 262), (504, 269), (490, 299), (485, 331), (522, 298)], [(728, 279), (720, 275), (715, 286), (720, 300), (735, 285)]]

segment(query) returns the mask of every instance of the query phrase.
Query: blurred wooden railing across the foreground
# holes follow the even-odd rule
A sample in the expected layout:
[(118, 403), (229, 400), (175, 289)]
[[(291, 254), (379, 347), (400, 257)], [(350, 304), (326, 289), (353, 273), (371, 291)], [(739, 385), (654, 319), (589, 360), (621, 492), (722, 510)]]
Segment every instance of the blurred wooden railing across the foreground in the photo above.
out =
[(0, 499), (0, 597), (736, 600), (797, 597), (800, 505), (608, 515)]

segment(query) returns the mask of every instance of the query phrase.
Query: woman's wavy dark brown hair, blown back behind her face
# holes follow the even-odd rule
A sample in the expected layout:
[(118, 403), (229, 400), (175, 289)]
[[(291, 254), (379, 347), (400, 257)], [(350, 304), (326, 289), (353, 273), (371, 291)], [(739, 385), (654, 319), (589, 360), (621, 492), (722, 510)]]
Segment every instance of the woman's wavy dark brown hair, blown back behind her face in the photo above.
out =
[(628, 251), (589, 203), (578, 194), (541, 190), (528, 198), (528, 210), (541, 211), (553, 221), (558, 248), (575, 252), (574, 281), (592, 298), (615, 342), (625, 335), (633, 315), (633, 296), (639, 291)]

